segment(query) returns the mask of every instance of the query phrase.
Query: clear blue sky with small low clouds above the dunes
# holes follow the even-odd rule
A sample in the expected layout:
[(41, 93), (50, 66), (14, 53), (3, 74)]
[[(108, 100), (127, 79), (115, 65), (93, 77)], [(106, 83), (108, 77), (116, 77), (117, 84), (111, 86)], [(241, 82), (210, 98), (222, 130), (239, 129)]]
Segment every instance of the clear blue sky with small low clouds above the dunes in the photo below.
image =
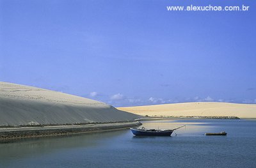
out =
[[(250, 6), (167, 11), (166, 6)], [(256, 103), (252, 0), (0, 0), (0, 80), (115, 107)]]

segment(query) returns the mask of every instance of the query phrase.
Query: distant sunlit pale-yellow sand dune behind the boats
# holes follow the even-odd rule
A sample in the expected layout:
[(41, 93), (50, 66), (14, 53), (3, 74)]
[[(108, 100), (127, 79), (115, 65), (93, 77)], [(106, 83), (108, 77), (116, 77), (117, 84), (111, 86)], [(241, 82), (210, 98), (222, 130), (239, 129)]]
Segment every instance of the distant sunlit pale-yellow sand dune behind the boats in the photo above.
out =
[(137, 107), (118, 107), (117, 109), (141, 116), (237, 116), (256, 118), (256, 104), (193, 102)]

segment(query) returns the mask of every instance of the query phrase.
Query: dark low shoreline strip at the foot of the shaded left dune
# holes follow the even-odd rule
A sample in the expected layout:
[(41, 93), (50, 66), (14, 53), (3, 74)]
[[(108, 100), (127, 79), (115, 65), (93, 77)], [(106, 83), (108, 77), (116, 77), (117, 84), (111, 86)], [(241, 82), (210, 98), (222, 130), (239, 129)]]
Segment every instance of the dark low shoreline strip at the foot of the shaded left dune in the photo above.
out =
[(15, 127), (0, 128), (0, 143), (14, 139), (29, 139), (34, 137), (51, 137), (73, 134), (86, 134), (92, 132), (105, 132), (121, 130), (142, 125), (139, 121), (125, 123), (103, 123), (88, 125), (61, 125), (61, 126), (36, 126), (36, 127)]

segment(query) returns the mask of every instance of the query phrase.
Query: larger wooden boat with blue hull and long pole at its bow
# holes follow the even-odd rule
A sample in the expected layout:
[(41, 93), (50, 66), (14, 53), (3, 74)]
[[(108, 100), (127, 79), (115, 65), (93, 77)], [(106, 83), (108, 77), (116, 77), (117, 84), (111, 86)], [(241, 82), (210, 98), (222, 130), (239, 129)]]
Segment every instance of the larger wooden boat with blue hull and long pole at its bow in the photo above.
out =
[[(185, 125), (183, 125), (185, 126)], [(159, 130), (159, 129), (146, 129), (144, 127), (142, 128), (130, 128), (132, 131), (132, 134), (134, 135), (144, 135), (144, 136), (170, 136), (172, 135), (174, 130), (177, 130), (183, 126), (180, 126), (178, 128), (174, 128), (172, 130)]]

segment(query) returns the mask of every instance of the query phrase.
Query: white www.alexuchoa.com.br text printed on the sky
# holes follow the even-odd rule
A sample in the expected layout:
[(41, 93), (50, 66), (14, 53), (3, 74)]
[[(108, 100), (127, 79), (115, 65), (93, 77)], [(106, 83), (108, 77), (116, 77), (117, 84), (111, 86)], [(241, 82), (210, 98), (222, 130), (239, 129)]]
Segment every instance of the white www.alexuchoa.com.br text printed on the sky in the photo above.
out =
[(250, 6), (166, 6), (168, 11), (248, 11)]

